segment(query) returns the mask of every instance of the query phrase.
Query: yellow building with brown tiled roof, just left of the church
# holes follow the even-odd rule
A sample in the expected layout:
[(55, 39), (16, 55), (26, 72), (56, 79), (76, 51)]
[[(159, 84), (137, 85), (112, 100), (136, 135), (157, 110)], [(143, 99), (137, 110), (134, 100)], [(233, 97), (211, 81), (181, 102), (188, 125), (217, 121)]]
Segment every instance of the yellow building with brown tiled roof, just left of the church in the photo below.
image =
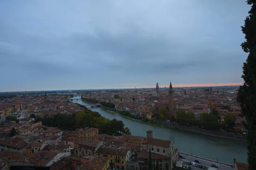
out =
[(131, 150), (101, 146), (96, 153), (98, 156), (105, 156), (109, 158), (109, 167), (111, 169), (122, 168), (122, 170), (126, 170), (126, 162), (131, 160)]

